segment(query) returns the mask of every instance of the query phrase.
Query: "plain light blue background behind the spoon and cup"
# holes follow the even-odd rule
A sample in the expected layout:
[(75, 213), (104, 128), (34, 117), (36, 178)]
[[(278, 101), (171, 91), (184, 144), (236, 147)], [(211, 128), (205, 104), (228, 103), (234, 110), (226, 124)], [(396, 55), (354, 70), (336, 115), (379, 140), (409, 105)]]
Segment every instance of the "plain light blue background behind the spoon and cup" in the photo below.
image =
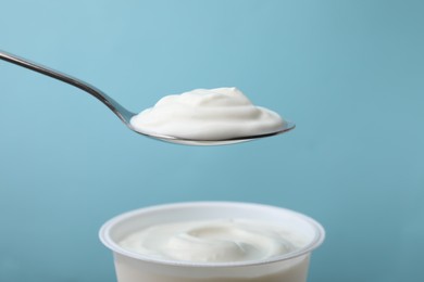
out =
[(130, 111), (236, 86), (297, 123), (190, 148), (126, 129), (71, 86), (0, 62), (0, 281), (115, 281), (120, 213), (247, 201), (321, 221), (310, 282), (424, 281), (423, 1), (1, 0), (0, 49)]

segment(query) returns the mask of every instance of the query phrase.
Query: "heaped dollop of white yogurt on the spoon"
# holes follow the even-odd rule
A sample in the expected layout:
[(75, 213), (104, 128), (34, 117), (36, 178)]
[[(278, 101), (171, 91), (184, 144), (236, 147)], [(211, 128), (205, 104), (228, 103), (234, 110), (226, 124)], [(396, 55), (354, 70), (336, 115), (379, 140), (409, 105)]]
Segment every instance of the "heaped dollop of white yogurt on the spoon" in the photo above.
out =
[(222, 140), (265, 134), (285, 121), (275, 112), (253, 105), (237, 88), (196, 89), (162, 98), (130, 119), (132, 127), (191, 140)]

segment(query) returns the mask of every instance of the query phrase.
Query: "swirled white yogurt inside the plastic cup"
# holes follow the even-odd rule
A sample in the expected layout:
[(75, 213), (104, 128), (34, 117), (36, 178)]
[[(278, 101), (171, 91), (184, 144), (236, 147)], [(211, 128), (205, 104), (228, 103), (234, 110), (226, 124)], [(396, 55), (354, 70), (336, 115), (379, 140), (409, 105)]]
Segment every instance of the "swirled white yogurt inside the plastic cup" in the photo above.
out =
[(247, 219), (158, 225), (120, 242), (123, 248), (152, 258), (192, 262), (263, 260), (294, 252), (304, 244), (301, 234)]

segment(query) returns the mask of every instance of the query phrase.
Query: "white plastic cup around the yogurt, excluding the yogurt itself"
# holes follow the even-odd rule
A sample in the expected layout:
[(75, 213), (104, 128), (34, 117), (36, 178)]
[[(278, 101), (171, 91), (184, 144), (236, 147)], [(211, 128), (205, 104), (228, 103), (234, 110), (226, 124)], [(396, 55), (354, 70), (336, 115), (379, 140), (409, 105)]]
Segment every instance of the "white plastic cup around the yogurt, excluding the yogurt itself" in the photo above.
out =
[[(245, 218), (299, 232), (301, 248), (246, 262), (187, 262), (151, 258), (119, 245), (126, 235), (158, 223)], [(234, 202), (176, 203), (140, 208), (105, 222), (101, 242), (113, 252), (119, 282), (305, 282), (311, 252), (324, 241), (323, 227), (302, 214), (267, 205)]]

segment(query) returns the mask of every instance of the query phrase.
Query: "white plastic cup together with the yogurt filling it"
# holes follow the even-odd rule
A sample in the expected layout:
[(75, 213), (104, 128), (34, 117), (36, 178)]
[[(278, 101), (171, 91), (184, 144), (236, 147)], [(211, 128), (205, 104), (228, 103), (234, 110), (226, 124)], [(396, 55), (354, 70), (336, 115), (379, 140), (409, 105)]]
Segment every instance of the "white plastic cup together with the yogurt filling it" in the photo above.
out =
[(125, 213), (99, 235), (113, 252), (119, 282), (305, 282), (311, 252), (325, 232), (312, 218), (280, 207), (191, 202)]

